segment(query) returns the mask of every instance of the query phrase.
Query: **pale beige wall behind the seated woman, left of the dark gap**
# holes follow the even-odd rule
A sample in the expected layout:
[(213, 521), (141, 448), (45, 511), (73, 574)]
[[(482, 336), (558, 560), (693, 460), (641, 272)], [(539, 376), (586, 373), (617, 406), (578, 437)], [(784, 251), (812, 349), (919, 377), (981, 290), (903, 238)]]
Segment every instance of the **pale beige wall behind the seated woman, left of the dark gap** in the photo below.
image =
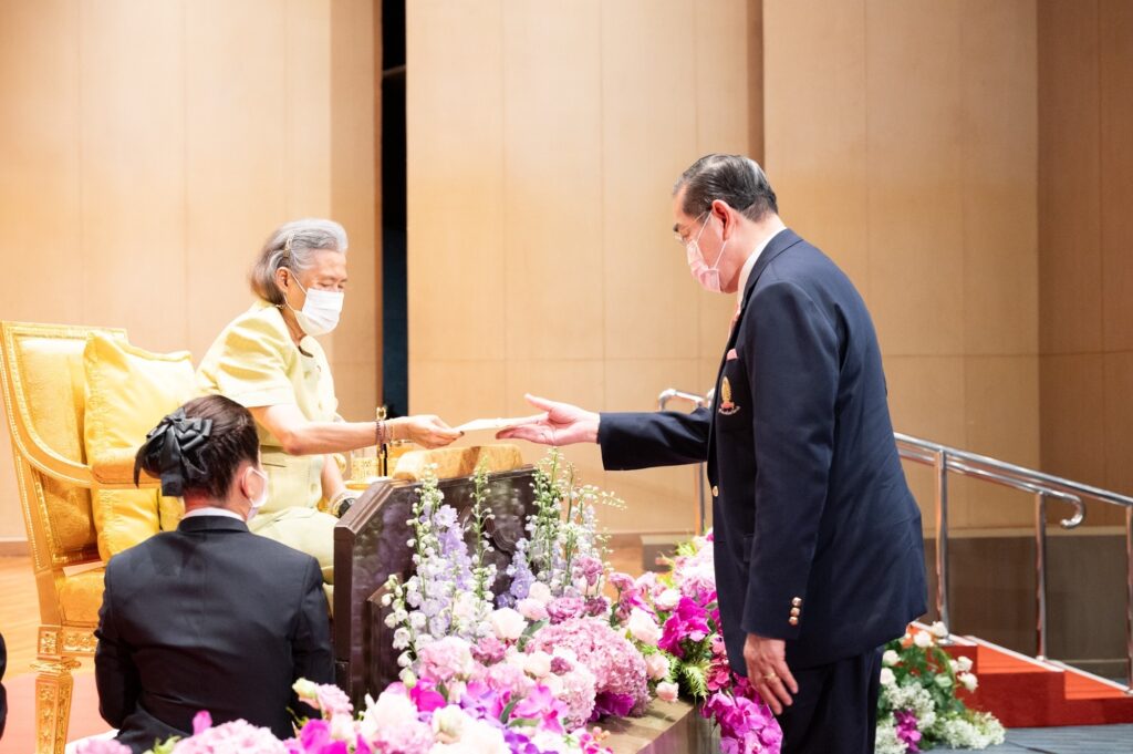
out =
[[(369, 0), (0, 5), (0, 319), (125, 327), (199, 358), (250, 302), (267, 232), (335, 217), (352, 280), (327, 350), (368, 415), (373, 31)], [(9, 459), (5, 431), (0, 537), (22, 539)]]

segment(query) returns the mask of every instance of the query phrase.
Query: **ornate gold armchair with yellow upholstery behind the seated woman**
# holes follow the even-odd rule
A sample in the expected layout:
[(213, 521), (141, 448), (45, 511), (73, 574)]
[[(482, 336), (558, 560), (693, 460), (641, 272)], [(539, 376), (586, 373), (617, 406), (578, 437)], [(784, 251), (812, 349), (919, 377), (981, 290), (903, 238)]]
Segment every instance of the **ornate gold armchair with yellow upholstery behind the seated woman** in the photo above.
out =
[(91, 332), (126, 339), (125, 330), (0, 323), (0, 387), (40, 599), (37, 754), (63, 753), (71, 670), (76, 658), (94, 653), (104, 569), (92, 491), (134, 488), (128, 465), (95, 474), (86, 460), (83, 350)]

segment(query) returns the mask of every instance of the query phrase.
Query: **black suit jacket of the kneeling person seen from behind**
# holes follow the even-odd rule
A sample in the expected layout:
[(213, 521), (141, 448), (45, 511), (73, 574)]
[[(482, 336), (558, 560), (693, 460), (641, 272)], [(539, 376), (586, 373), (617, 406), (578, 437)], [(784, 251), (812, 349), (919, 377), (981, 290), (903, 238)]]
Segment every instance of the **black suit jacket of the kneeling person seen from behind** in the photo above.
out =
[(95, 635), (100, 712), (135, 752), (201, 710), (290, 737), (291, 684), (333, 683), (318, 562), (224, 516), (111, 558)]

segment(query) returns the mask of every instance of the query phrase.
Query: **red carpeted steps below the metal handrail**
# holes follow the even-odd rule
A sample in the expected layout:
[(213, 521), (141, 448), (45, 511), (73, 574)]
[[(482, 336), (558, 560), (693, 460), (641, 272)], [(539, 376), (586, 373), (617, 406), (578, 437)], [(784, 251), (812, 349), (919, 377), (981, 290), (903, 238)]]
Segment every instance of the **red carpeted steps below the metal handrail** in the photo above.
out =
[(956, 643), (945, 651), (969, 658), (980, 681), (976, 692), (961, 697), (973, 709), (991, 712), (1007, 728), (1133, 722), (1133, 696), (1124, 686), (973, 636), (954, 638)]

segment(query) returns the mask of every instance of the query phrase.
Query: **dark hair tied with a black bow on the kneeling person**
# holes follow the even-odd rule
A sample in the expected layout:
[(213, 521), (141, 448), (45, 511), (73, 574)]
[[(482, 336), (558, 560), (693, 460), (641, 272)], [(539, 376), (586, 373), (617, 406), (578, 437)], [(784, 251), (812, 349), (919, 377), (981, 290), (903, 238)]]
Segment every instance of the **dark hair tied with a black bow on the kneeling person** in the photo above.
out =
[(161, 420), (135, 458), (138, 471), (161, 478), (164, 494), (196, 492), (228, 497), (244, 461), (259, 460), (256, 423), (248, 409), (224, 396), (194, 398)]

